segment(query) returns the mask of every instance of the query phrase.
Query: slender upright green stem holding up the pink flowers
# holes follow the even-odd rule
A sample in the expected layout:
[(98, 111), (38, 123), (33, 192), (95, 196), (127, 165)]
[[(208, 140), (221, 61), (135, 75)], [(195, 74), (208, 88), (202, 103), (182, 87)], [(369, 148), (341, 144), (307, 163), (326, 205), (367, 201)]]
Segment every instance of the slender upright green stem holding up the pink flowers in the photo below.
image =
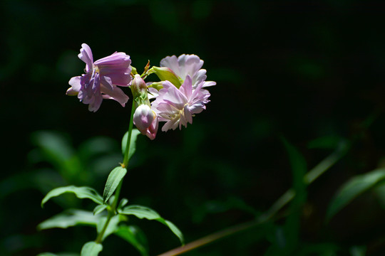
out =
[[(128, 161), (130, 160), (128, 158), (128, 154), (130, 153), (130, 141), (131, 141), (131, 134), (133, 132), (133, 114), (135, 112), (135, 100), (133, 100), (133, 107), (131, 109), (131, 114), (130, 114), (130, 123), (128, 125), (128, 137), (127, 137), (127, 145), (125, 146), (125, 152), (124, 152), (124, 158), (123, 158), (123, 164), (122, 167), (127, 169), (128, 166)], [(103, 242), (103, 235), (106, 233), (108, 224), (110, 223), (111, 218), (116, 215), (116, 206), (118, 205), (118, 200), (119, 200), (119, 195), (120, 195), (120, 190), (122, 188), (123, 184), (123, 178), (120, 181), (118, 188), (116, 188), (115, 191), (115, 197), (113, 198), (113, 203), (111, 204), (111, 208), (108, 208), (108, 215), (107, 215), (107, 220), (106, 223), (103, 226), (103, 229), (101, 230), (101, 233), (98, 234), (96, 237), (95, 242), (96, 243), (101, 243)]]

